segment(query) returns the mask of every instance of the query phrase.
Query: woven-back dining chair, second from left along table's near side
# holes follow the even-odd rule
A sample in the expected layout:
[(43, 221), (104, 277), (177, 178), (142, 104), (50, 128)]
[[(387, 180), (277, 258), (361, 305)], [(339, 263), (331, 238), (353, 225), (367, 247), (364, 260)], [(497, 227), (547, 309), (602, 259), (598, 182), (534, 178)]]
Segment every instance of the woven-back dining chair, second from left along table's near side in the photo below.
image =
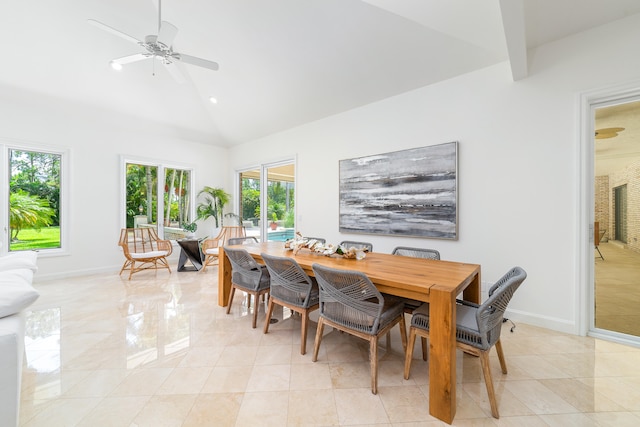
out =
[(271, 276), (271, 290), (269, 291), (269, 306), (267, 318), (264, 321), (264, 333), (269, 332), (269, 324), (273, 307), (278, 304), (302, 317), (300, 329), (300, 354), (307, 352), (307, 325), (309, 313), (317, 310), (319, 305), (318, 283), (304, 272), (293, 258), (262, 254), (269, 275)]

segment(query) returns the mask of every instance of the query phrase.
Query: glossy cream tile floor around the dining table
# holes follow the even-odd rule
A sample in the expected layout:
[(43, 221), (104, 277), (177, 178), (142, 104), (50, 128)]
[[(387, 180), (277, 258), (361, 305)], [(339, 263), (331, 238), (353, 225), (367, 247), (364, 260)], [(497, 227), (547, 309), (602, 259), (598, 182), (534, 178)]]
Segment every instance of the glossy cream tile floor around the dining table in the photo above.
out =
[[(252, 329), (246, 296), (229, 315), (218, 306), (217, 277), (36, 278), (20, 425), (445, 425), (429, 415), (428, 363), (414, 360), (402, 378), (397, 329), (391, 349), (380, 347), (373, 395), (364, 341), (326, 328), (313, 363), (314, 322), (300, 355), (299, 317), (277, 311), (265, 335), (260, 304)], [(502, 340), (509, 374), (491, 358), (501, 418), (490, 415), (479, 361), (458, 352), (453, 425), (640, 425), (640, 349), (522, 323)]]

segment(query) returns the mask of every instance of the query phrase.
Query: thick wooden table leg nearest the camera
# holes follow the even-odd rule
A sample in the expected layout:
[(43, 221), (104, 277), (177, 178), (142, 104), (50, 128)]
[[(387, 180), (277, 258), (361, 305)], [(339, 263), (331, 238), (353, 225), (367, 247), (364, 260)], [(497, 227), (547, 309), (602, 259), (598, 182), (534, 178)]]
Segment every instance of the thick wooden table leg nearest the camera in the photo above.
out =
[(429, 413), (451, 424), (456, 415), (456, 295), (429, 290)]

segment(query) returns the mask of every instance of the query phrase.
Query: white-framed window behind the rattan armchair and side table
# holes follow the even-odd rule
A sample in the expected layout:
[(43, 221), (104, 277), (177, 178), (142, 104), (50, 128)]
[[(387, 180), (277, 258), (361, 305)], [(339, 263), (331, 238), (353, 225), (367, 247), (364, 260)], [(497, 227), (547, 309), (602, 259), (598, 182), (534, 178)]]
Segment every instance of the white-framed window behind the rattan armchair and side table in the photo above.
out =
[(140, 161), (125, 161), (125, 169), (127, 228), (153, 227), (170, 240), (185, 237), (184, 226), (195, 219), (193, 171)]

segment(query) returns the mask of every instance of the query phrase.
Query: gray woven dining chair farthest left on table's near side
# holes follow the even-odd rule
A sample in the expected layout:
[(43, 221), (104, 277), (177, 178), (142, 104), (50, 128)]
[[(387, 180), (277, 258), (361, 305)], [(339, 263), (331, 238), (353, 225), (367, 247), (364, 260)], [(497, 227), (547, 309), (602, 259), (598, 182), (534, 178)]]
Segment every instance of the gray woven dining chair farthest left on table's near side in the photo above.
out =
[(224, 247), (224, 253), (231, 263), (231, 291), (227, 301), (227, 314), (231, 311), (233, 296), (236, 289), (249, 294), (247, 308), (251, 308), (251, 296), (254, 297), (253, 322), (255, 329), (258, 321), (258, 298), (269, 292), (269, 271), (265, 265), (258, 264), (249, 252), (242, 248)]

